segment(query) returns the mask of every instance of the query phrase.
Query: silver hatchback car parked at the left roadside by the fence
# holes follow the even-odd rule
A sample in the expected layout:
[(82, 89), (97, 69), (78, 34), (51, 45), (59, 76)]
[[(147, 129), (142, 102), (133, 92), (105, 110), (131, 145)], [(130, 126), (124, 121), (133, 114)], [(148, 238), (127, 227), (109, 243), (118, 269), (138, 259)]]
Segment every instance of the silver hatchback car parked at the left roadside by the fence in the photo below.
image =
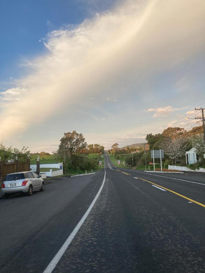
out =
[(14, 193), (32, 195), (34, 190), (44, 191), (44, 189), (45, 183), (43, 179), (34, 172), (7, 174), (2, 184), (2, 194), (5, 198)]

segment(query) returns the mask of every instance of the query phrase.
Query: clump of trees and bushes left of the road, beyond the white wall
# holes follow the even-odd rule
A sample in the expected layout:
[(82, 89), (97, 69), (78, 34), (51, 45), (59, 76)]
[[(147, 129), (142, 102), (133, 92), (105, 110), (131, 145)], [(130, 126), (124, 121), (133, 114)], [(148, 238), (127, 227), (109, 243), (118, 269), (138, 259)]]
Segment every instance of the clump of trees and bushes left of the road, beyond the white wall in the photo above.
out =
[[(104, 152), (104, 147), (99, 144), (87, 145), (84, 136), (81, 133), (64, 133), (60, 139), (58, 150), (53, 151), (53, 159), (64, 162), (64, 168), (67, 173), (76, 170), (91, 170), (98, 166), (100, 154)], [(95, 157), (88, 157), (90, 153), (98, 153)]]

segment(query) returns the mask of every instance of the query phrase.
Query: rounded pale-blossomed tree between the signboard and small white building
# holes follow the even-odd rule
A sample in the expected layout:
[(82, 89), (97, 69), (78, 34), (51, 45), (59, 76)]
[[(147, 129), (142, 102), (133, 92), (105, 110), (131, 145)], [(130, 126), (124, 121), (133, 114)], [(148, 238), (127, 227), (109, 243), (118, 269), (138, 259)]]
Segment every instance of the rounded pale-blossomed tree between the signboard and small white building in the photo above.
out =
[(185, 156), (189, 146), (189, 138), (187, 137), (178, 137), (175, 139), (168, 137), (162, 141), (160, 148), (163, 149), (164, 153), (176, 163), (177, 158), (182, 158)]

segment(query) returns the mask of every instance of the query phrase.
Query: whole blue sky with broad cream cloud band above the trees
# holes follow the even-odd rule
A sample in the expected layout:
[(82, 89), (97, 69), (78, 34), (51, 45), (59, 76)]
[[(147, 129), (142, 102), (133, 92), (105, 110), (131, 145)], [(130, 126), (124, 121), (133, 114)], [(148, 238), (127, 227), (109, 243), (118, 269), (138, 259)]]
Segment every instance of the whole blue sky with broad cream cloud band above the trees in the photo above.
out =
[(204, 0), (0, 0), (0, 141), (145, 142), (205, 106)]

